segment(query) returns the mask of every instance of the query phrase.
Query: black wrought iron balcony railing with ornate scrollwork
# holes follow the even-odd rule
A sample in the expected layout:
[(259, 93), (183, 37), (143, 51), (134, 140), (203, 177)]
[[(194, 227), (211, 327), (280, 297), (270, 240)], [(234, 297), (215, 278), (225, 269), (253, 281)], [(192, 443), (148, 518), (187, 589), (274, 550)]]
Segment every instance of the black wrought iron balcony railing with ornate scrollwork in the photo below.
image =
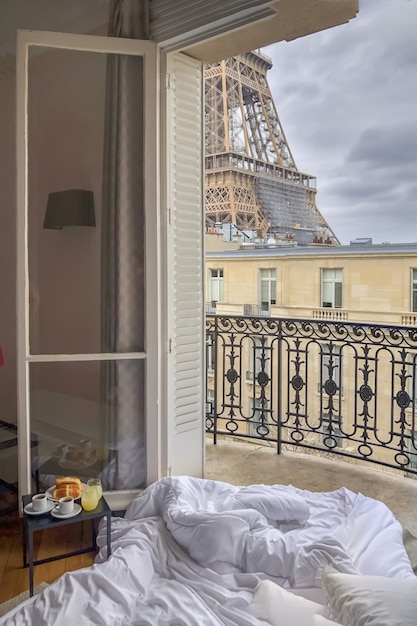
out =
[(215, 315), (206, 431), (417, 476), (417, 328)]

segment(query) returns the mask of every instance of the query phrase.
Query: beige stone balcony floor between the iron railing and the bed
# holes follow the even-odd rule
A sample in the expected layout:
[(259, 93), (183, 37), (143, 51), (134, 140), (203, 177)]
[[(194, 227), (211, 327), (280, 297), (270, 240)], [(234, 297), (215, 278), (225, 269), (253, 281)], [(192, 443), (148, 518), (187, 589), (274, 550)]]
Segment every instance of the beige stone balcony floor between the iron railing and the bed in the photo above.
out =
[(345, 487), (363, 493), (391, 509), (404, 529), (410, 560), (417, 563), (417, 481), (378, 471), (372, 464), (358, 467), (338, 460), (289, 450), (277, 455), (272, 443), (227, 436), (219, 436), (214, 445), (208, 435), (205, 477), (234, 485), (281, 484), (318, 492)]

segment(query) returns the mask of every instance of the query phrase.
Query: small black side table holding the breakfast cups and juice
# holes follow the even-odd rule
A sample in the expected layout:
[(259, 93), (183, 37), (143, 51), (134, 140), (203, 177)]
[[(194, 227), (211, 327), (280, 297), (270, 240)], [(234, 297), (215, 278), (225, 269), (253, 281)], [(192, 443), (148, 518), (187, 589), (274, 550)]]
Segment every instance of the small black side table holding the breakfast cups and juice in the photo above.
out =
[[(23, 496), (23, 508), (32, 501), (32, 496)], [(97, 549), (96, 532), (93, 528), (93, 544), (88, 548), (82, 548), (80, 550), (74, 550), (73, 552), (66, 552), (65, 554), (58, 554), (57, 556), (51, 556), (47, 559), (33, 560), (33, 534), (38, 530), (46, 530), (53, 528), (54, 526), (64, 526), (65, 524), (76, 524), (77, 522), (84, 522), (85, 520), (92, 520), (92, 527), (94, 525), (93, 520), (107, 517), (107, 558), (111, 554), (111, 509), (107, 504), (105, 498), (101, 498), (97, 507), (93, 511), (84, 511), (84, 509), (78, 515), (69, 517), (66, 519), (57, 519), (50, 513), (43, 515), (28, 515), (23, 512), (23, 567), (29, 567), (29, 595), (33, 596), (33, 568), (35, 565), (41, 565), (42, 563), (50, 563), (51, 561), (57, 561), (58, 559), (66, 559), (70, 556), (77, 554), (84, 554), (85, 552), (95, 552)], [(29, 549), (29, 560), (28, 560)]]

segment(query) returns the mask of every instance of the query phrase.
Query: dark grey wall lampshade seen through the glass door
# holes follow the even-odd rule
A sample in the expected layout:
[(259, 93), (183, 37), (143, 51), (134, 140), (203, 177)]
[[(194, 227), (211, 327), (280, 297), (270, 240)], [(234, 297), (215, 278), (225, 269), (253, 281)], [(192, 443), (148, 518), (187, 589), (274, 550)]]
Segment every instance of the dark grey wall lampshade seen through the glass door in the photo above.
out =
[(85, 189), (53, 191), (48, 196), (44, 228), (95, 226), (94, 195)]

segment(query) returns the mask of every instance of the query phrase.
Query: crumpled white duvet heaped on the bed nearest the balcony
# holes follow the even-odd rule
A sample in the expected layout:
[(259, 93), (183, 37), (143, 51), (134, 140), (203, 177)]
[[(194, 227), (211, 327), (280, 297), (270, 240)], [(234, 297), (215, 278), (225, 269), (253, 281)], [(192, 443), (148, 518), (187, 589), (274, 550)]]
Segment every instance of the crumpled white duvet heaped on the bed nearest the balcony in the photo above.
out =
[(349, 573), (412, 575), (391, 511), (344, 488), (314, 493), (165, 478), (136, 498), (125, 517), (154, 515), (193, 559), (219, 572), (264, 572), (291, 587), (317, 586), (326, 564)]

